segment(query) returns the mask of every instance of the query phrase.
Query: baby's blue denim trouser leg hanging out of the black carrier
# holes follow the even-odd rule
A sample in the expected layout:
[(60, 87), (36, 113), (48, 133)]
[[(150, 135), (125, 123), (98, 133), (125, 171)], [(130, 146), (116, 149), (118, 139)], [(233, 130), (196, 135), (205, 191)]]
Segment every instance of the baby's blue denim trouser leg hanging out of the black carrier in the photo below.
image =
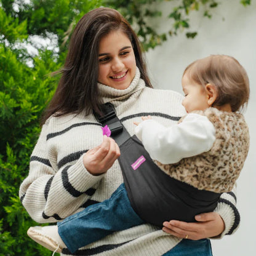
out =
[(58, 222), (58, 233), (70, 252), (104, 238), (114, 231), (144, 223), (130, 206), (122, 183), (109, 199), (88, 206), (78, 214)]

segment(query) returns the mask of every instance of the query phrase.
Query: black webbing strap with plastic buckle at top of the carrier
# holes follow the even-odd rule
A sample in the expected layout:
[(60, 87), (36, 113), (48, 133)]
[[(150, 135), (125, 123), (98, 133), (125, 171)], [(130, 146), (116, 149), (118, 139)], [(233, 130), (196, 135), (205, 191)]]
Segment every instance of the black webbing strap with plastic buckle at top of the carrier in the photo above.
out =
[(105, 103), (102, 105), (103, 116), (94, 112), (94, 116), (102, 126), (108, 126), (111, 130), (111, 137), (116, 141), (118, 146), (121, 146), (122, 143), (126, 142), (130, 138), (129, 132), (122, 125), (119, 118), (116, 116), (116, 110), (111, 103)]

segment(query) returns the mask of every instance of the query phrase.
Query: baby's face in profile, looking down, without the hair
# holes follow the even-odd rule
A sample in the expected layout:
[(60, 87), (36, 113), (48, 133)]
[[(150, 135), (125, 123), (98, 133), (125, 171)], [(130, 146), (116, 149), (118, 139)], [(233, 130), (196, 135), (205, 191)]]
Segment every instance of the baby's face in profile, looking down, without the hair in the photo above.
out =
[(186, 74), (182, 78), (182, 88), (185, 94), (182, 105), (187, 113), (209, 108), (206, 89), (201, 84), (191, 81)]

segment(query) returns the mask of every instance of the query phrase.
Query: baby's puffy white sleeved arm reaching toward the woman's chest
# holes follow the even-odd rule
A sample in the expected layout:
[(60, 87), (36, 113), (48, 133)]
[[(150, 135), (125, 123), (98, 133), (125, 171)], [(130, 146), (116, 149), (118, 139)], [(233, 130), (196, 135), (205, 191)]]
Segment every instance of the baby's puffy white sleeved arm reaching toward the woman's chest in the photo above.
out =
[(172, 164), (209, 151), (215, 141), (215, 128), (206, 116), (191, 113), (183, 122), (164, 127), (153, 119), (145, 119), (135, 128), (151, 158)]

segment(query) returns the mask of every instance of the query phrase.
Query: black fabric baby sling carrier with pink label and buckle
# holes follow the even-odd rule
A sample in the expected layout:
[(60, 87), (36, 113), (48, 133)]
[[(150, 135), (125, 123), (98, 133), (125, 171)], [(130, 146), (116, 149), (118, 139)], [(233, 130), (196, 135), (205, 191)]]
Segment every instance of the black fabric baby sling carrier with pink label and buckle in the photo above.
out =
[[(194, 216), (212, 212), (220, 193), (198, 190), (165, 174), (150, 158), (144, 146), (122, 126), (111, 103), (104, 107), (105, 116), (95, 114), (98, 121), (110, 127), (111, 137), (118, 143), (118, 158), (130, 204), (135, 212), (156, 226), (169, 220), (195, 222)], [(111, 117), (111, 118), (110, 118)]]

